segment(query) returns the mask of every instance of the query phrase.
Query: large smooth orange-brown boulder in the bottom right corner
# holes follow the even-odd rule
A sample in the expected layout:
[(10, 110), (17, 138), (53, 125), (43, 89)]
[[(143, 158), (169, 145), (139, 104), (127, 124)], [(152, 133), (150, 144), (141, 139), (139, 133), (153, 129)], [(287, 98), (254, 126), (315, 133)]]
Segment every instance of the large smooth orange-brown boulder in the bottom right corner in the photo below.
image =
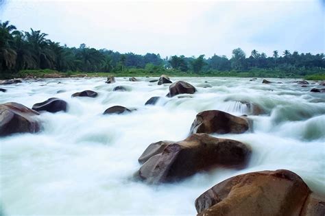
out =
[(324, 197), (313, 196), (292, 171), (258, 171), (228, 178), (195, 200), (198, 215), (324, 215)]

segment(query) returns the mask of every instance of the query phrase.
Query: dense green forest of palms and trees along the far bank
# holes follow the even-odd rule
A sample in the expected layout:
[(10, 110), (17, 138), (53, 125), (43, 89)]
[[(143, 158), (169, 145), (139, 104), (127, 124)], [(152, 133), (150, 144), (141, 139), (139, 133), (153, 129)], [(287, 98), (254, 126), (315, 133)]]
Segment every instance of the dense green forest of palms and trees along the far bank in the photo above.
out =
[[(241, 48), (232, 50), (232, 57), (167, 56), (156, 53), (139, 55), (119, 53), (110, 49), (95, 49), (81, 44), (67, 47), (52, 41), (40, 30), (19, 31), (10, 21), (0, 21), (0, 76), (24, 70), (51, 69), (71, 73), (182, 74), (182, 75), (248, 75), (299, 77), (324, 74), (324, 53), (299, 53), (274, 50), (272, 56), (252, 50), (246, 54)], [(135, 71), (135, 72), (134, 72)]]

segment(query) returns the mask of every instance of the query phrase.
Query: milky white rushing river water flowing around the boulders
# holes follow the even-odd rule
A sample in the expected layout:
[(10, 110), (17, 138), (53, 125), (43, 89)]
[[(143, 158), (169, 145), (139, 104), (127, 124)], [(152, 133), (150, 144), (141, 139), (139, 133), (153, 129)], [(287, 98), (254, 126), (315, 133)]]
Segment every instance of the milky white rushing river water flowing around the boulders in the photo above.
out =
[[(325, 194), (325, 95), (311, 93), (294, 80), (282, 84), (250, 82), (248, 78), (182, 77), (197, 88), (191, 97), (162, 99), (158, 86), (117, 78), (76, 78), (26, 81), (0, 86), (0, 103), (15, 101), (32, 107), (50, 97), (69, 104), (68, 112), (43, 112), (43, 130), (0, 138), (0, 203), (5, 215), (195, 215), (195, 198), (230, 176), (249, 171), (289, 169), (317, 193)], [(208, 83), (205, 83), (208, 81)], [(113, 92), (115, 86), (128, 91)], [(210, 88), (204, 88), (210, 87)], [(71, 97), (83, 90), (96, 98)], [(61, 93), (57, 93), (62, 91)], [(246, 169), (215, 169), (182, 182), (148, 185), (132, 180), (145, 148), (161, 140), (186, 138), (197, 112), (217, 109), (243, 115), (250, 101), (265, 114), (249, 116), (253, 132), (213, 136), (235, 139), (252, 147)], [(102, 115), (110, 106), (137, 108), (125, 115)], [(0, 213), (1, 215), (1, 213)]]

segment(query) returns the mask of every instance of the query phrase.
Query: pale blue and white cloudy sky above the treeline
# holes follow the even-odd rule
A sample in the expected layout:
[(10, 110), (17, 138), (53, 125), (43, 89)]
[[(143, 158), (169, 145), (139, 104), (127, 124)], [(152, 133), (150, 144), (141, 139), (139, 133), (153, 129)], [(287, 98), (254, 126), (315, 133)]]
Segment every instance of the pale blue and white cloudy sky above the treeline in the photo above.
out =
[[(1, 3), (2, 2), (2, 3)], [(291, 1), (13, 1), (0, 20), (79, 47), (121, 53), (231, 57), (241, 47), (272, 56), (285, 49), (325, 52), (325, 0)]]

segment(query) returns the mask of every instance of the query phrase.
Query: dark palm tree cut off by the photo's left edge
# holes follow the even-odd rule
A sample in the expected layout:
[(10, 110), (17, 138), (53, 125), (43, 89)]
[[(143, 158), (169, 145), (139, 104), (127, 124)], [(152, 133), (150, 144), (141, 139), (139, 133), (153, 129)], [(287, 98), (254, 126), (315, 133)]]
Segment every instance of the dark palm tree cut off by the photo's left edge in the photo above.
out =
[(0, 69), (13, 69), (16, 65), (17, 53), (12, 49), (14, 29), (16, 27), (9, 25), (9, 21), (0, 22)]

